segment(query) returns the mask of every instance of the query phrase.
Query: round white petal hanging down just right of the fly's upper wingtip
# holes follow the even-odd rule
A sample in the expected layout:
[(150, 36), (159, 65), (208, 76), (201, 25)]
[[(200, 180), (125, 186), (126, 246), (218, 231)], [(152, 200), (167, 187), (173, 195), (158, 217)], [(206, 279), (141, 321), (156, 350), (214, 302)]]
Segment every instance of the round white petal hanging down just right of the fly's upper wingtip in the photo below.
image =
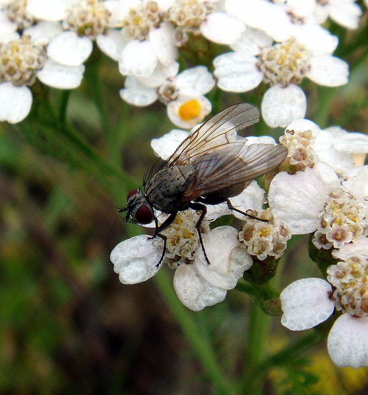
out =
[(262, 116), (271, 128), (285, 127), (295, 119), (304, 118), (307, 99), (303, 90), (294, 84), (271, 86), (263, 95)]

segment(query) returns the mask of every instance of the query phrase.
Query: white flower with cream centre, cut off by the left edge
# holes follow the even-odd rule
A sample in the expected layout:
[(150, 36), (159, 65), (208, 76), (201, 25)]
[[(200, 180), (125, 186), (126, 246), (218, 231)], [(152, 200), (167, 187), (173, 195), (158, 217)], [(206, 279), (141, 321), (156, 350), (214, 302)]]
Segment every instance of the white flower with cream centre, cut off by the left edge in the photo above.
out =
[[(29, 86), (36, 78), (60, 89), (80, 84), (84, 66), (67, 67), (47, 59), (40, 38), (46, 37), (41, 31), (47, 28), (47, 24), (32, 27), (30, 34), (26, 29), (22, 37), (0, 42), (0, 121), (17, 123), (28, 115), (32, 106)], [(39, 36), (34, 42), (31, 35), (35, 32)]]

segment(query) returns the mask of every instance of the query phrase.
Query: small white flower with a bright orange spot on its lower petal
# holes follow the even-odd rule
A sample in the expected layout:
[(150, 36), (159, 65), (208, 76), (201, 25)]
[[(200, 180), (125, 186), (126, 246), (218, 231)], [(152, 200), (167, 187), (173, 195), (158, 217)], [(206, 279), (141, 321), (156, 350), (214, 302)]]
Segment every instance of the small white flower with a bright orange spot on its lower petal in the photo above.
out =
[(156, 99), (167, 105), (169, 119), (177, 126), (192, 128), (211, 112), (211, 102), (204, 97), (215, 86), (215, 79), (205, 66), (196, 66), (177, 74), (177, 62), (156, 67), (149, 77), (127, 76), (122, 99), (136, 106), (147, 106)]

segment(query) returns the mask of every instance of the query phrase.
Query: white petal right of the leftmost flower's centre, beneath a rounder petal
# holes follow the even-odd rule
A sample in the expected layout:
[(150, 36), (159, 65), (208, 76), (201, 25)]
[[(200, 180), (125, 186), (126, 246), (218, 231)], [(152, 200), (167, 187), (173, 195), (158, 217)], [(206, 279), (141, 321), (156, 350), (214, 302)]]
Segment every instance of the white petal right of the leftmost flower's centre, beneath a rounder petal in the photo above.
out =
[(47, 59), (37, 72), (38, 79), (46, 85), (58, 89), (74, 89), (83, 78), (84, 65), (66, 66)]

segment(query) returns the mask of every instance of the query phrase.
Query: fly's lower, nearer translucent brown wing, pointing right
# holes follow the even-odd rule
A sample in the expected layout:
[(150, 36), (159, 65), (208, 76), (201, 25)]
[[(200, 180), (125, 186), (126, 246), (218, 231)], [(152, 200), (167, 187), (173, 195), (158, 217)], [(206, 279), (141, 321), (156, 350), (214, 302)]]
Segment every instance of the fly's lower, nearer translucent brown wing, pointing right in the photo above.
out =
[(254, 180), (277, 167), (285, 159), (287, 151), (281, 144), (245, 145), (235, 142), (198, 155), (191, 162), (195, 180), (184, 192), (183, 199), (191, 201), (198, 196)]

